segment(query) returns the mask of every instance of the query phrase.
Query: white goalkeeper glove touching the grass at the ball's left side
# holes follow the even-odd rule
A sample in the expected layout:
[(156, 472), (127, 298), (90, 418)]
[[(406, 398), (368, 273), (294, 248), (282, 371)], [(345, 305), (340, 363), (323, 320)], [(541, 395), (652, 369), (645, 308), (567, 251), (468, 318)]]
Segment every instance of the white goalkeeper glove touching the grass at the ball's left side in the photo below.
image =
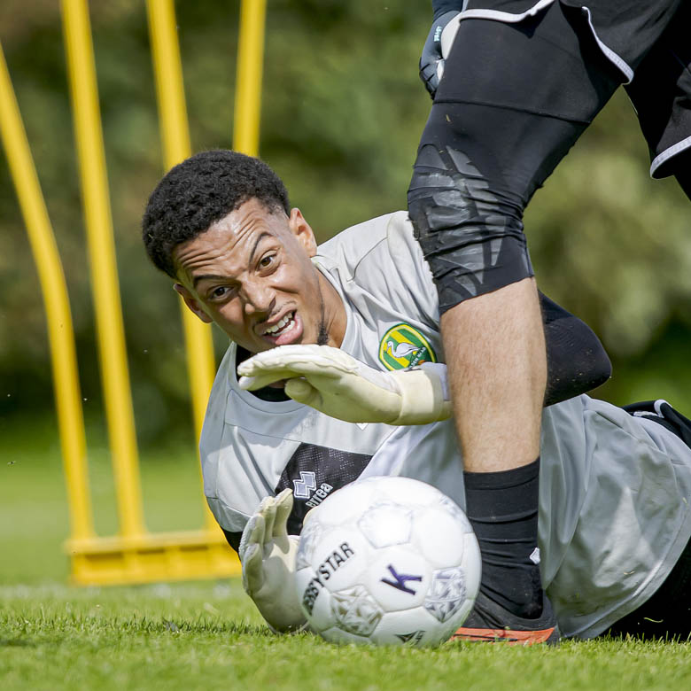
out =
[(265, 497), (245, 525), (238, 549), (245, 593), (276, 633), (298, 631), (306, 624), (293, 586), (299, 538), (286, 527), (291, 509), (291, 489)]

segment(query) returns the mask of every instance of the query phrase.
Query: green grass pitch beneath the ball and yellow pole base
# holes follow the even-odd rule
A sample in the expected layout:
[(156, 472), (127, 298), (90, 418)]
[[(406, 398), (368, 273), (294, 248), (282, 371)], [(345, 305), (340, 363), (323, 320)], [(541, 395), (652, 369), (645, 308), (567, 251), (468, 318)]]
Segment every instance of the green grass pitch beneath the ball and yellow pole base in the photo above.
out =
[[(97, 527), (115, 530), (108, 454), (89, 451)], [(91, 441), (91, 439), (89, 439)], [(686, 689), (691, 643), (566, 641), (559, 648), (446, 643), (354, 648), (277, 637), (238, 579), (136, 587), (66, 585), (67, 532), (50, 423), (0, 442), (0, 688)], [(180, 449), (182, 447), (182, 450)], [(193, 447), (143, 454), (147, 523), (198, 527)]]

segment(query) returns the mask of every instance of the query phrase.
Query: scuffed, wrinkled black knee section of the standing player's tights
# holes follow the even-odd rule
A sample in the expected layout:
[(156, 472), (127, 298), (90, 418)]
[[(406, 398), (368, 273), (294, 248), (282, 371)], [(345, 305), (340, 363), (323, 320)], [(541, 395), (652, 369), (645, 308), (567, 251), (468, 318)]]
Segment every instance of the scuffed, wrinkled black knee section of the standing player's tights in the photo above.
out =
[(532, 276), (523, 207), (497, 187), (462, 151), (424, 144), (418, 152), (408, 212), (441, 313)]

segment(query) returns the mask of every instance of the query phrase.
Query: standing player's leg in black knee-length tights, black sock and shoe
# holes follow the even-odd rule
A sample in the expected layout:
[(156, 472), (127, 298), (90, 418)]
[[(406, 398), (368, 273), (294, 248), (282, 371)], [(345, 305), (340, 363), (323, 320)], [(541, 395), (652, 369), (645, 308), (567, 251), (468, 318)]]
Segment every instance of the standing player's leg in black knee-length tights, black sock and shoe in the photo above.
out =
[(483, 555), (477, 640), (554, 637), (536, 550), (545, 346), (522, 217), (620, 81), (558, 3), (516, 26), (462, 21), (415, 162), (408, 209), (439, 290)]

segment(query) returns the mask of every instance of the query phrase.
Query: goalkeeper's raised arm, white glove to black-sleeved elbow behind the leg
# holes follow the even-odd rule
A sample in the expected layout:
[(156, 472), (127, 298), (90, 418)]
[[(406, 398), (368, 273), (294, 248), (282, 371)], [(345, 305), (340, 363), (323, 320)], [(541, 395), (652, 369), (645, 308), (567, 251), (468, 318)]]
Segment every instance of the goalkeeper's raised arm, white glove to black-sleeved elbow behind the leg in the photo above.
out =
[[(611, 374), (594, 332), (540, 293), (547, 345), (545, 405), (586, 393)], [(426, 424), (451, 415), (446, 366), (423, 362), (383, 372), (330, 346), (279, 346), (242, 362), (240, 386), (259, 389), (287, 379), (285, 392), (350, 423)]]

